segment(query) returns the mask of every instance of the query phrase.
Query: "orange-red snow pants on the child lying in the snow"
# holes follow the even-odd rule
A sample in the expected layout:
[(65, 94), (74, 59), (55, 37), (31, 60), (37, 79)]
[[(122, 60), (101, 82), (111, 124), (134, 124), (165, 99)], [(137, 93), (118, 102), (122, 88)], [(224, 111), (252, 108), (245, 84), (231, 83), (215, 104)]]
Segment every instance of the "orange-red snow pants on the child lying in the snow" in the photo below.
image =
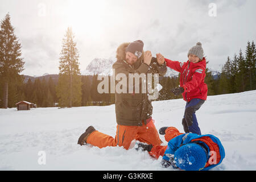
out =
[[(179, 130), (176, 129), (176, 127), (168, 127), (166, 129), (166, 134), (164, 135), (164, 138), (166, 139), (166, 142), (169, 142), (171, 139), (182, 135), (184, 133), (180, 133)], [(152, 147), (151, 151), (149, 152), (149, 154), (151, 156), (154, 156), (154, 158), (158, 159), (159, 156), (163, 156), (164, 152), (166, 151), (167, 146), (154, 146)]]

